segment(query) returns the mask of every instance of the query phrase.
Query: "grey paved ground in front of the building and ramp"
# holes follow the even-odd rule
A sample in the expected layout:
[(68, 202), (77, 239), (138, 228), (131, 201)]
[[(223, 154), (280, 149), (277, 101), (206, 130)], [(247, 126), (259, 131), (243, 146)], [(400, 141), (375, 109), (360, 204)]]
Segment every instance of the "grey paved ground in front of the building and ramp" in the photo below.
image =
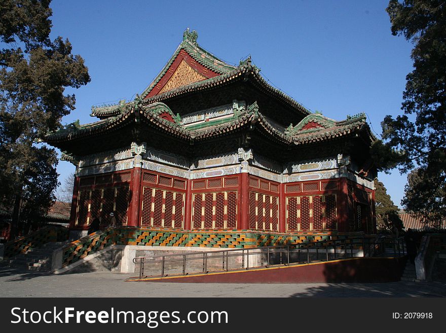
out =
[(0, 297), (446, 297), (443, 282), (223, 284), (125, 282), (135, 274), (48, 275), (0, 267)]

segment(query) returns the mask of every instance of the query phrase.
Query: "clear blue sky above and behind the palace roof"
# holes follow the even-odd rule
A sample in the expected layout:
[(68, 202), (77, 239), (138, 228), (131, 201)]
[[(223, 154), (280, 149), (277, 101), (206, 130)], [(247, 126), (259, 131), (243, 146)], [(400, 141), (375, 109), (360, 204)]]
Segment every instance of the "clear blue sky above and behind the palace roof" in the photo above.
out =
[[(269, 82), (312, 111), (342, 120), (365, 112), (381, 134), (385, 115), (401, 113), (412, 45), (393, 36), (388, 1), (66, 1), (53, 0), (52, 37), (68, 38), (91, 82), (75, 93), (62, 123), (89, 116), (92, 105), (131, 100), (157, 76), (185, 28), (222, 60), (251, 55)], [(59, 162), (60, 181), (75, 167)], [(406, 175), (380, 173), (396, 205)]]

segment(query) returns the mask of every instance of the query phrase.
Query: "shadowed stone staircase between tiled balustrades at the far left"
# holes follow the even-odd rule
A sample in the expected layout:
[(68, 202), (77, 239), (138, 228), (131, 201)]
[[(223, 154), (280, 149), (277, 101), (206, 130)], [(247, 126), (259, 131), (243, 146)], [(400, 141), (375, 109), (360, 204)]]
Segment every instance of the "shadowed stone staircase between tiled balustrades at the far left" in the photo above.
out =
[(42, 247), (29, 250), (27, 253), (18, 254), (6, 261), (9, 267), (34, 271), (51, 272), (53, 251), (67, 244), (66, 242), (50, 242)]

